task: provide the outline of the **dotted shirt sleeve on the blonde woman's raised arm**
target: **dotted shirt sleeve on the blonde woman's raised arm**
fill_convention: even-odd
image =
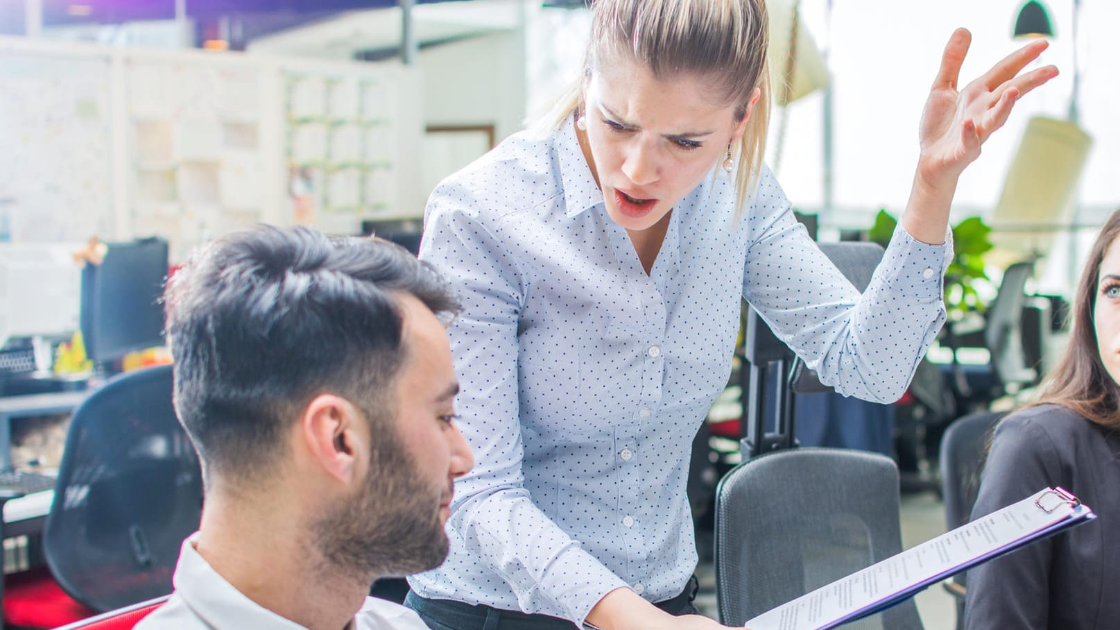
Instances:
[[[943,245],[900,226],[860,294],[796,223],[769,172],[752,207],[744,297],[774,333],[844,396],[894,402],[945,322]]]

